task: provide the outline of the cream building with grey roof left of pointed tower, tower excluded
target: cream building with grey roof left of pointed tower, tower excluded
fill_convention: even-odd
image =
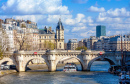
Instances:
[[[45,26],[44,29],[39,30],[39,49],[55,49],[55,32],[51,29],[51,27],[47,28]]]

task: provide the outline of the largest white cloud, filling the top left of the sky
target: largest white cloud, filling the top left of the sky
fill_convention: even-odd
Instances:
[[[8,0],[1,8],[5,14],[69,14],[62,0]]]

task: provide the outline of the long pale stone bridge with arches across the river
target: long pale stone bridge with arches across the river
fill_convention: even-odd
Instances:
[[[35,52],[35,53],[34,53]],[[99,54],[102,52],[102,55]],[[127,54],[130,57],[130,54]],[[105,60],[110,65],[121,65],[121,52],[104,51],[78,51],[78,50],[47,50],[47,51],[17,51],[7,52],[0,64],[8,62],[16,65],[17,71],[26,71],[27,65],[32,60],[42,60],[48,66],[48,71],[55,71],[61,60],[75,58],[82,66],[82,70],[89,71],[96,60]]]

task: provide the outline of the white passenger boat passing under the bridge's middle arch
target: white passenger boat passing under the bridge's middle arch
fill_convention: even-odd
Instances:
[[[63,71],[64,72],[76,72],[77,67],[74,63],[67,63],[67,64],[65,64]]]

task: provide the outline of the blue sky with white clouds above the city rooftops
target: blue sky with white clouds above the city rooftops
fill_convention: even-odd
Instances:
[[[130,33],[130,0],[0,0],[0,19],[31,20],[38,28],[52,27],[59,18],[65,41],[96,35],[96,26],[106,26],[106,35]]]

